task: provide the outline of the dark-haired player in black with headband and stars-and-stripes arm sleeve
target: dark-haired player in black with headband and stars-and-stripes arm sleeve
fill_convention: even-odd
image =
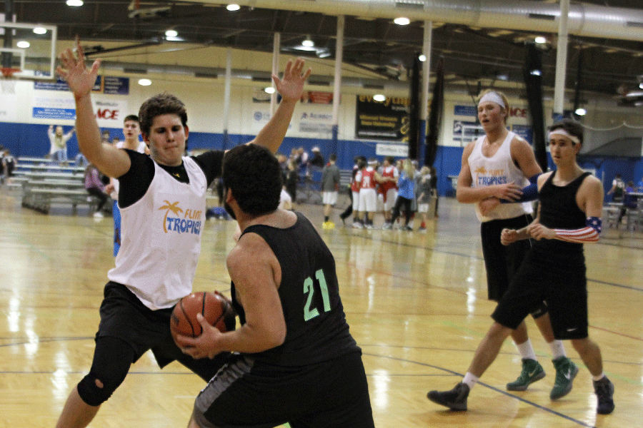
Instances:
[[[467,376],[476,379],[494,362],[504,340],[542,300],[551,312],[554,334],[571,340],[594,380],[597,413],[614,410],[614,384],[603,372],[599,346],[587,331],[587,277],[583,244],[599,240],[603,208],[601,182],[585,173],[576,161],[583,142],[579,123],[564,119],[550,128],[549,146],[557,170],[537,180],[539,212],[525,228],[502,230],[502,244],[533,238],[532,250],[514,275],[509,290],[492,314],[494,323],[484,337]],[[573,377],[573,373],[564,373]],[[466,377],[465,377],[466,379]],[[451,391],[429,392],[429,399],[454,410],[467,409],[469,385],[462,382]]]

